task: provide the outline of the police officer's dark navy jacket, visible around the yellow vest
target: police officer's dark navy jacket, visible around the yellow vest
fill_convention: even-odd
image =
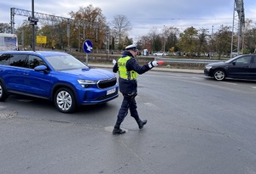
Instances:
[[[134,70],[139,75],[150,70],[150,68],[148,67],[148,64],[143,66],[138,65],[136,59],[132,56],[130,52],[125,51],[122,58],[125,58],[126,56],[131,57],[131,59],[129,59],[126,62],[126,65],[125,65],[126,70],[129,70],[129,71]],[[119,59],[122,59],[122,58],[119,58]],[[116,63],[113,66],[113,72],[116,73],[118,70],[119,70],[119,67],[118,67],[118,64]],[[119,77],[119,91],[120,93],[125,93],[125,94],[137,93],[137,80],[126,80]]]

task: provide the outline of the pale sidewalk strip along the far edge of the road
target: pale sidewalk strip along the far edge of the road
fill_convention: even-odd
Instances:
[[[109,68],[112,69],[113,65],[99,65],[99,64],[89,64],[89,67],[94,68]],[[172,69],[172,68],[166,68],[166,67],[155,67],[152,70],[157,71],[164,71],[164,72],[184,72],[184,73],[194,73],[194,74],[203,74],[204,70],[189,70],[189,69]]]

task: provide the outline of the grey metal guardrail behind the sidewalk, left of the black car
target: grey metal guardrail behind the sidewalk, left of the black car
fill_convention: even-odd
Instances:
[[[163,60],[170,63],[183,63],[183,64],[211,64],[214,62],[221,62],[224,60],[215,60],[215,59],[169,59],[169,58],[154,58],[155,60]]]

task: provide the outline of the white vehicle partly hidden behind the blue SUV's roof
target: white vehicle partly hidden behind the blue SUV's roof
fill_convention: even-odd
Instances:
[[[0,51],[18,50],[18,38],[15,34],[0,33]]]

